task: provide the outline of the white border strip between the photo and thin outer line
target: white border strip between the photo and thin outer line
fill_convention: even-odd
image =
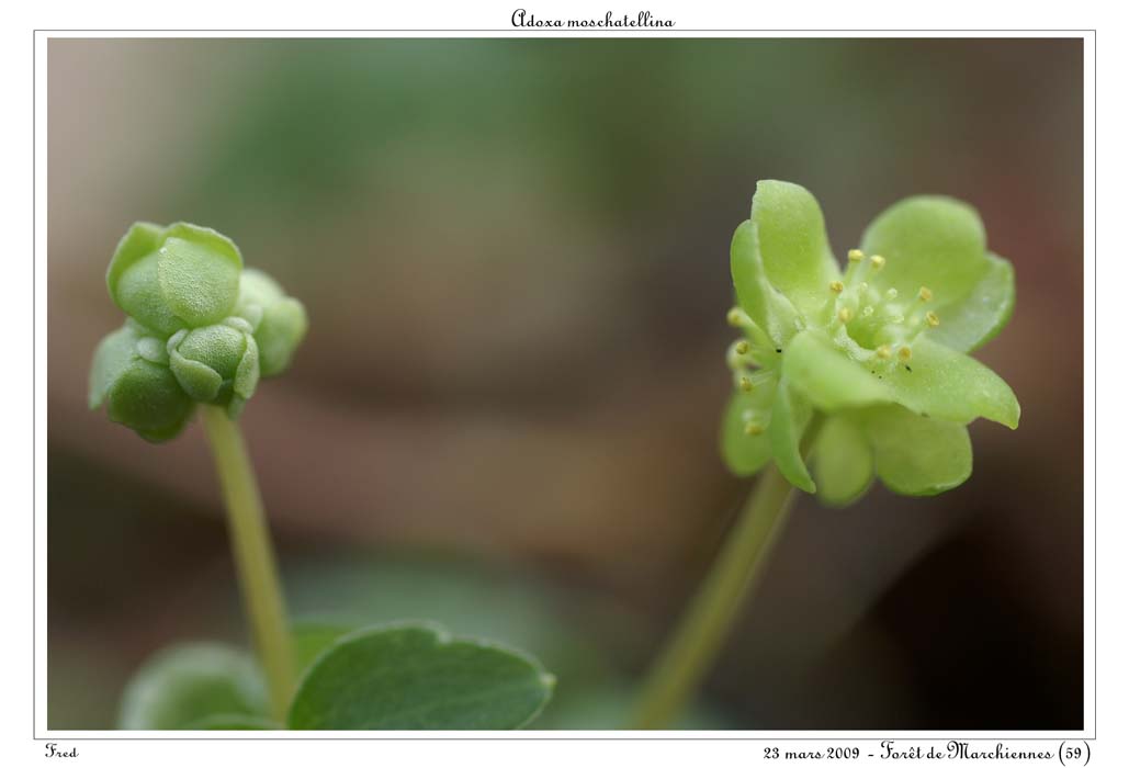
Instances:
[[[656,14],[657,16],[658,15]],[[1084,386],[1084,585],[1085,585],[1085,643],[1084,643],[1084,727],[1080,731],[701,731],[701,732],[618,732],[575,731],[517,733],[435,733],[396,732],[395,735],[375,736],[369,733],[330,732],[318,735],[306,733],[270,732],[256,735],[217,734],[217,732],[186,732],[175,736],[158,735],[160,732],[138,732],[137,735],[115,735],[121,732],[104,731],[49,731],[46,728],[46,254],[47,254],[47,140],[46,140],[46,82],[47,43],[53,38],[88,37],[1069,37],[1084,43],[1084,217],[1085,217],[1085,386]],[[785,742],[803,740],[816,744],[837,740],[896,739],[899,742],[914,740],[947,741],[1036,741],[1036,740],[1082,740],[1095,739],[1096,730],[1096,514],[1095,514],[1095,393],[1096,393],[1096,251],[1095,251],[1095,115],[1096,115],[1096,32],[1091,30],[735,30],[735,29],[680,29],[673,30],[546,30],[546,29],[474,29],[474,30],[36,30],[34,33],[34,80],[35,80],[35,174],[34,174],[34,320],[35,320],[35,398],[34,398],[34,721],[33,738],[38,741],[139,741],[139,740],[209,740],[209,741],[326,741],[326,740],[755,740]],[[1034,734],[1039,734],[1035,736]],[[207,735],[204,735],[207,734]],[[614,734],[614,735],[611,735]],[[798,745],[797,745],[798,748]],[[1018,749],[1009,744],[1010,749]],[[1014,765],[1014,763],[1012,763]]]

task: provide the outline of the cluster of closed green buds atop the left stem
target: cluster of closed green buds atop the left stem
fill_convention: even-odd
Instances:
[[[230,239],[193,224],[139,222],[106,271],[129,316],[98,344],[89,404],[141,437],[175,437],[196,403],[235,418],[260,376],[282,373],[306,334],[306,311],[270,277],[243,269]]]

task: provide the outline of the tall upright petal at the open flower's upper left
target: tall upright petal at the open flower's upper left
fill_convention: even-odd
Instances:
[[[802,314],[813,316],[826,304],[828,286],[839,277],[820,203],[798,184],[761,181],[751,218],[769,282]]]

